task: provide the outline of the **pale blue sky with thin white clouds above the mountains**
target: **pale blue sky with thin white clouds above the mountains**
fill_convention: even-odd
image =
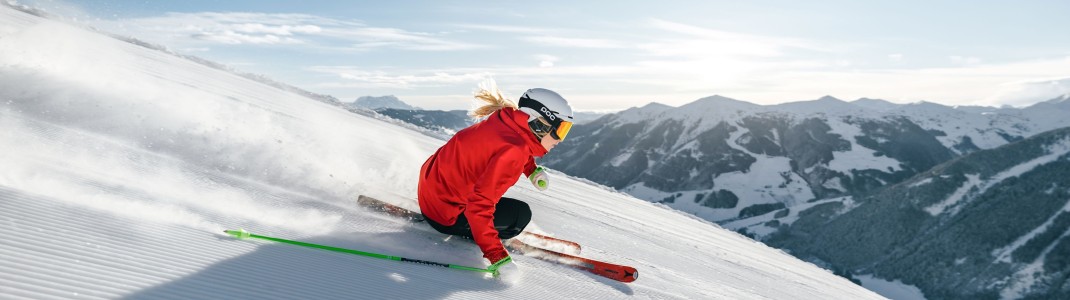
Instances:
[[[1026,106],[1070,93],[1070,1],[19,0],[342,102],[578,110],[722,95]]]

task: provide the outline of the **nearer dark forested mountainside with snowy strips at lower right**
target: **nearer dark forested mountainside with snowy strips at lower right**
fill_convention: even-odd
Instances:
[[[1070,128],[724,226],[930,299],[1070,299]]]

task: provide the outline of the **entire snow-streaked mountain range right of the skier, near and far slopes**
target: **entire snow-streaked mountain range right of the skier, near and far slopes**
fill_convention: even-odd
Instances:
[[[577,126],[541,163],[853,278],[1067,299],[1070,96],[1025,108],[712,96]]]

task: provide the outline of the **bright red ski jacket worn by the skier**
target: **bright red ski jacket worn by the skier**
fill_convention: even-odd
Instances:
[[[547,152],[528,129],[528,118],[520,110],[502,108],[457,132],[419,170],[421,211],[446,226],[463,212],[475,243],[490,262],[508,256],[494,229],[494,206],[521,174],[531,176],[535,158]]]

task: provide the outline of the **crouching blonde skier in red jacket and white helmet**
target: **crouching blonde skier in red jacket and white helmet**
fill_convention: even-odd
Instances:
[[[556,92],[530,89],[513,103],[493,82],[475,98],[486,104],[472,111],[486,118],[455,134],[421,167],[419,209],[435,230],[475,241],[490,270],[515,278],[519,270],[502,240],[520,235],[531,221],[528,204],[502,197],[526,176],[539,191],[549,178],[535,158],[568,135],[572,108]]]

